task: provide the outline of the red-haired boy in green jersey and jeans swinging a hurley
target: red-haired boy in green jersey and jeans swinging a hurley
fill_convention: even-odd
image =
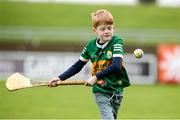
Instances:
[[[109,11],[97,10],[92,13],[92,23],[97,37],[87,43],[76,63],[60,76],[51,79],[49,87],[55,87],[57,81],[75,75],[90,60],[92,77],[85,85],[92,86],[101,118],[117,119],[123,88],[130,85],[122,65],[123,41],[119,36],[114,35],[113,16]]]

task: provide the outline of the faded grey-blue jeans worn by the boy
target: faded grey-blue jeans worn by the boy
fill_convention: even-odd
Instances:
[[[96,104],[99,107],[101,119],[115,120],[117,119],[118,110],[122,101],[122,93],[119,94],[94,94]]]

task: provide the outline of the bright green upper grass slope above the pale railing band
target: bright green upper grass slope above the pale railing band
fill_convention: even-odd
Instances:
[[[180,8],[0,2],[0,25],[91,27],[90,13],[108,9],[117,28],[180,29]],[[3,18],[3,19],[2,19]]]

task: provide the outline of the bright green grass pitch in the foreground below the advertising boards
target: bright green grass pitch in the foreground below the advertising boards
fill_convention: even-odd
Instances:
[[[125,89],[119,111],[122,119],[180,119],[178,85],[132,85]],[[60,86],[9,92],[0,81],[1,119],[99,118],[91,88]]]

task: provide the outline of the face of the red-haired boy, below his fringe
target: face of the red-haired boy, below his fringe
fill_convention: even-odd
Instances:
[[[93,29],[94,33],[99,37],[101,42],[110,41],[114,35],[113,25],[100,25]]]

